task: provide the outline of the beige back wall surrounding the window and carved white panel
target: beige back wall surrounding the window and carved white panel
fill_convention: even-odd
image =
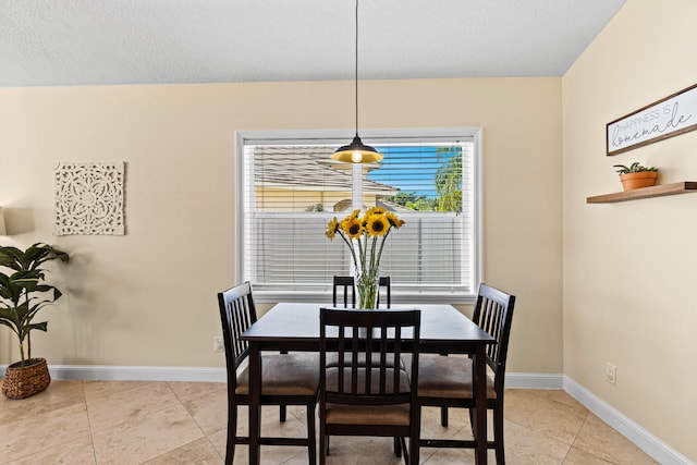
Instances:
[[[561,79],[362,82],[360,125],[482,126],[484,278],[518,296],[510,369],[562,370]],[[346,129],[352,82],[0,89],[3,244],[72,254],[34,338],[49,364],[223,366],[235,131]],[[368,140],[369,142],[369,140]],[[126,235],[52,236],[61,161],[125,161]],[[308,322],[311,323],[311,322]],[[0,329],[0,364],[17,358]]]

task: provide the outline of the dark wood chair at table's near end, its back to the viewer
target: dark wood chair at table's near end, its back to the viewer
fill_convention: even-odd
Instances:
[[[399,438],[395,454],[403,453],[407,465],[419,463],[418,363],[409,374],[393,368],[403,354],[418,360],[419,331],[417,309],[320,310],[320,465],[329,436]],[[333,352],[338,363],[330,366],[327,355]]]

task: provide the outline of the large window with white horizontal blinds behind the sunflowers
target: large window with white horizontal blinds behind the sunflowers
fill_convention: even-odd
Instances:
[[[327,223],[382,206],[405,224],[390,234],[380,273],[395,303],[472,302],[479,280],[478,130],[362,133],[375,164],[330,156],[345,134],[244,133],[239,138],[237,276],[260,302],[330,302],[334,274],[352,274],[348,248]],[[354,173],[354,171],[356,171]]]

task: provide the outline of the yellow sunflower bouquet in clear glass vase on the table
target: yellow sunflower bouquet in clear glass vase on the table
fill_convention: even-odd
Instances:
[[[351,250],[356,270],[358,308],[375,308],[384,241],[392,228],[402,228],[404,221],[382,207],[370,208],[363,217],[359,215],[360,210],[354,210],[341,221],[332,218],[325,234],[330,241],[339,234]]]

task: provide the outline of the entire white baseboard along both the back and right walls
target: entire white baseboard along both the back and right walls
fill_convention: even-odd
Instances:
[[[0,365],[0,377],[4,377],[7,367],[7,365]],[[227,381],[225,368],[50,365],[49,370],[53,379],[82,379],[89,381]],[[563,389],[658,463],[662,465],[695,465],[689,458],[564,375],[509,372],[505,376],[505,387],[513,389]]]

